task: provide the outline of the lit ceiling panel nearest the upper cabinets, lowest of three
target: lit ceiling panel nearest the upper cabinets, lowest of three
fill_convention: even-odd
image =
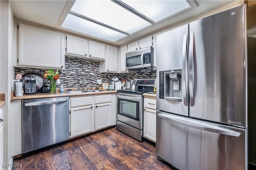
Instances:
[[[112,42],[115,42],[127,36],[123,33],[114,31],[91,21],[84,20],[72,14],[67,15],[61,27]]]

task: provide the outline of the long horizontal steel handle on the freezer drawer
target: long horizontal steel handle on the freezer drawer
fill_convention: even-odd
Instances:
[[[181,119],[176,119],[176,118],[172,117],[172,115],[167,114],[167,113],[166,114],[158,113],[158,116],[163,118],[163,119],[166,119],[168,121],[178,123],[180,125],[184,125],[184,126],[187,126],[187,127],[200,129],[200,130],[203,130],[203,131],[209,131],[209,132],[214,132],[214,133],[219,133],[219,134],[229,135],[229,136],[234,136],[234,137],[239,137],[240,134],[241,134],[241,133],[236,132],[236,131],[225,129],[225,128],[220,127],[218,125],[210,125],[210,124],[206,125],[206,123],[201,124],[201,123],[198,123],[197,120],[195,120],[194,122],[188,122],[188,121],[182,120],[182,117],[180,117]]]

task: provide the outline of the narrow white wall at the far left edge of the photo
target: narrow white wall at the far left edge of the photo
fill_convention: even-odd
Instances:
[[[12,162],[12,112],[10,96],[13,68],[13,15],[9,1],[0,3],[0,92],[6,92],[6,105],[2,107],[4,119],[4,162]],[[2,165],[0,165],[2,166]]]

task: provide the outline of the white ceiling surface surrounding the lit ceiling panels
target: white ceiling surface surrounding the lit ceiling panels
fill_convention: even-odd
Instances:
[[[124,43],[128,43],[134,39],[138,39],[139,37],[148,35],[158,29],[167,27],[168,25],[172,25],[174,23],[178,23],[179,21],[193,18],[194,16],[198,16],[209,10],[228,4],[232,2],[232,0],[196,0],[196,2],[198,3],[199,6],[196,6],[196,3],[194,3],[193,0],[188,0],[188,3],[190,4],[191,8],[186,10],[185,12],[172,16],[164,21],[160,21],[159,23],[156,23],[146,29],[138,31],[133,35],[129,35],[128,37],[125,37],[124,39],[121,39],[115,42],[114,44],[122,45]],[[46,25],[48,27],[63,29],[60,26],[62,25],[62,22],[64,21],[64,19],[66,18],[66,15],[71,9],[72,4],[74,4],[74,1],[73,0],[12,0],[10,1],[10,4],[12,7],[14,18]],[[65,31],[68,32],[69,30],[65,30]],[[72,31],[69,31],[69,32],[72,32]],[[102,39],[99,39],[99,40],[104,41]],[[106,41],[106,42],[109,42],[109,41]]]

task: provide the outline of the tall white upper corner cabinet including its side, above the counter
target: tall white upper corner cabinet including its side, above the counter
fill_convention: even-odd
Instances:
[[[100,62],[100,72],[117,72],[117,47],[107,45],[106,59]]]

